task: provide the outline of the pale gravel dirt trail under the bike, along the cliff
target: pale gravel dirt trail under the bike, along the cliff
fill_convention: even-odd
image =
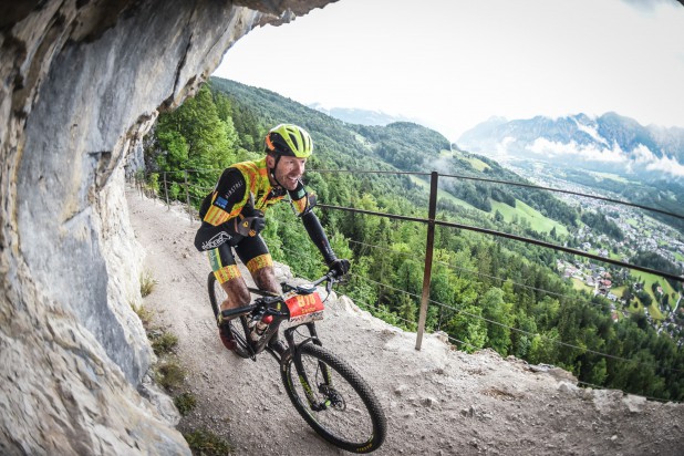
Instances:
[[[206,292],[208,261],[193,247],[198,222],[134,190],[127,199],[146,268],[158,282],[145,307],[155,311],[155,325],[178,336],[187,390],[198,401],[179,428],[206,427],[238,455],[344,454],[297,414],[270,355],[255,363],[221,345]],[[387,439],[376,455],[682,454],[682,404],[578,388],[564,371],[491,351],[465,354],[435,335],[416,351],[415,333],[346,299],[328,303],[319,324],[323,344],[373,386],[387,415]]]

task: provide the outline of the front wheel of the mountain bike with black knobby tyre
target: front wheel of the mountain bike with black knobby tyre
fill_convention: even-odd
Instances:
[[[387,424],[380,401],[346,362],[305,343],[283,360],[280,372],[294,408],[328,442],[352,453],[383,444]]]

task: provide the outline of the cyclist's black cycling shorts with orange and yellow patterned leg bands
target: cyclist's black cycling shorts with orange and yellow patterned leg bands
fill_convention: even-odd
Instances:
[[[247,269],[252,274],[259,269],[273,266],[271,253],[269,253],[261,236],[246,237],[234,247],[229,242],[224,242],[211,250],[207,250],[211,270],[219,283],[241,277],[240,270],[235,262],[232,249],[235,249],[240,261],[247,266]]]

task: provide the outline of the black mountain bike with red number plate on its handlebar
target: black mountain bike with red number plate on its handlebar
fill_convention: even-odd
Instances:
[[[225,319],[232,318],[238,356],[257,361],[267,351],[280,363],[290,401],[321,437],[351,453],[371,453],[383,444],[387,429],[380,401],[353,367],[322,346],[315,330],[336,281],[331,271],[307,286],[283,282],[282,296],[249,288],[260,298],[250,305],[220,311],[226,293],[210,272],[209,301],[216,318],[219,311]],[[317,286],[323,282],[328,296],[321,300]],[[287,321],[283,341],[279,329]]]

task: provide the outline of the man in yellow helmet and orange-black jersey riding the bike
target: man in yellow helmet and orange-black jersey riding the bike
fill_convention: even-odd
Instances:
[[[250,294],[235,261],[231,249],[247,266],[259,289],[280,294],[273,260],[259,232],[266,227],[263,213],[290,196],[309,237],[321,251],[325,265],[338,276],[349,270],[349,261],[338,259],[313,208],[301,176],[313,143],[302,127],[280,124],[266,135],[266,156],[255,162],[237,163],[224,170],[214,190],[199,209],[203,220],[195,236],[195,247],[207,251],[211,270],[228,298],[221,310],[249,305]],[[219,313],[221,342],[235,349],[228,320]]]

